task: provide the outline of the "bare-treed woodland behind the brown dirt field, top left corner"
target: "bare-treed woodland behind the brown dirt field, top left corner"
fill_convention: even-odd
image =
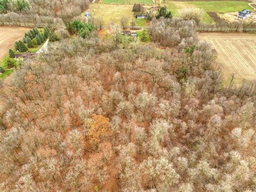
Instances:
[[[18,9],[17,2],[24,3],[22,9]],[[60,27],[87,9],[89,3],[89,0],[0,0],[0,25]]]

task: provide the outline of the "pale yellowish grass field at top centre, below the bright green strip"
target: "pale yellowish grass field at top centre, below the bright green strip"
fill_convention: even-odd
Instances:
[[[130,21],[132,21],[132,18],[134,18],[132,13],[132,7],[133,5],[94,3],[94,4],[91,4],[90,8],[86,11],[89,11],[90,13],[92,13],[94,17],[102,18],[104,21],[104,25],[110,25],[111,21],[114,21],[115,23],[119,23],[123,15],[129,17]],[[150,6],[145,5],[144,7],[145,9],[148,9]],[[141,23],[137,23],[137,24],[141,25]],[[129,22],[129,25],[130,25],[130,22]]]

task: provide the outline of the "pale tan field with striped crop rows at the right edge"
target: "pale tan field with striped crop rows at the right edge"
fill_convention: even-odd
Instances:
[[[224,84],[235,74],[235,83],[256,80],[256,34],[201,33],[212,44],[221,63]]]

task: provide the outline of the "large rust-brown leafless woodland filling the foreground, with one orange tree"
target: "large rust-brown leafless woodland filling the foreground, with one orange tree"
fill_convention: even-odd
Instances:
[[[1,84],[1,191],[256,189],[256,87],[221,85],[195,22],[52,43]]]

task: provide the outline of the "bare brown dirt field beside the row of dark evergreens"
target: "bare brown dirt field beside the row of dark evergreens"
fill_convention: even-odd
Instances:
[[[12,49],[14,42],[21,40],[24,34],[29,31],[24,27],[6,27],[0,26],[0,60]]]

